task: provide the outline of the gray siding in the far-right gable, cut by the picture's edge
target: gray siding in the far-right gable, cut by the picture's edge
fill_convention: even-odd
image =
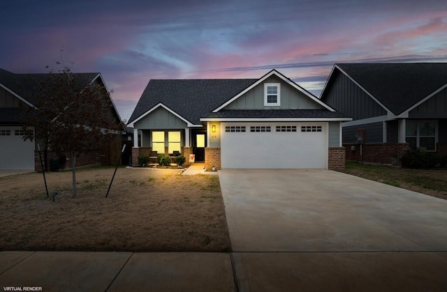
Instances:
[[[447,89],[433,95],[429,100],[409,112],[409,118],[446,118]]]

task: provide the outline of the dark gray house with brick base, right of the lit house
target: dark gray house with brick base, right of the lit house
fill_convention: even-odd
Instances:
[[[447,63],[337,63],[321,100],[353,117],[347,159],[397,164],[408,147],[447,154],[446,87]]]

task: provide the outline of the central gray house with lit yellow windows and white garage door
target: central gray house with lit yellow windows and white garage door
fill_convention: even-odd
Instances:
[[[133,165],[151,151],[179,151],[208,170],[339,169],[342,121],[351,118],[276,70],[260,79],[153,79],[129,119]]]

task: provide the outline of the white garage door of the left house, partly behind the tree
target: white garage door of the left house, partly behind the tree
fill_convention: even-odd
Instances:
[[[22,137],[20,127],[0,127],[0,169],[34,170],[34,142]]]

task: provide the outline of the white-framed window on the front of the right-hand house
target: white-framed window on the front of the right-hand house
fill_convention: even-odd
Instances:
[[[406,143],[411,149],[436,151],[436,128],[435,121],[406,121]]]

